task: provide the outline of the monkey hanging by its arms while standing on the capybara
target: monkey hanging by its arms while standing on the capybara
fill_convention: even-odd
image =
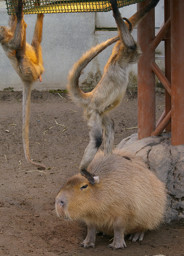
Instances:
[[[93,160],[99,146],[102,144],[102,127],[104,139],[104,154],[112,153],[114,146],[114,121],[108,114],[124,97],[128,73],[131,64],[137,63],[141,48],[131,36],[132,28],[154,8],[159,0],[152,0],[144,8],[130,17],[129,21],[122,18],[118,10],[117,0],[110,0],[115,18],[118,36],[112,37],[101,44],[92,47],[74,64],[68,74],[67,89],[72,100],[84,107],[84,115],[88,120],[89,144],[84,151],[79,171],[93,185],[93,174],[87,168]],[[125,23],[124,20],[127,22]],[[128,29],[129,28],[129,29]],[[108,46],[115,43],[112,55],[104,67],[103,75],[98,85],[91,92],[83,92],[79,88],[79,77],[88,63]]]

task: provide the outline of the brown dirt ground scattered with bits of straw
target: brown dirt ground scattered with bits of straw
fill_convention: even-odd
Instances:
[[[85,239],[86,226],[67,222],[53,210],[61,186],[78,172],[88,144],[88,128],[82,109],[65,93],[60,95],[32,91],[30,154],[35,162],[47,166],[46,171],[40,172],[24,157],[21,92],[0,92],[0,255],[184,255],[182,223],[148,232],[142,242],[125,238],[125,250],[107,249],[111,238],[102,235],[97,236],[94,249],[79,247]],[[164,94],[160,92],[156,94],[156,106],[158,118],[164,110]],[[115,122],[115,145],[137,133],[133,128],[137,127],[137,93],[127,91],[111,116]]]

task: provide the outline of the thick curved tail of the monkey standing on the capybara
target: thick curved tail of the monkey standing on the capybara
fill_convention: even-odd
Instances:
[[[72,100],[74,100],[75,102],[81,105],[86,105],[85,99],[88,93],[83,92],[79,88],[79,77],[82,74],[82,70],[99,53],[101,53],[108,46],[110,46],[111,44],[115,43],[118,40],[119,40],[118,36],[112,37],[107,41],[92,47],[90,50],[86,51],[86,53],[84,53],[82,57],[73,65],[72,69],[69,71],[69,74],[68,74],[68,85],[67,85],[67,90]]]

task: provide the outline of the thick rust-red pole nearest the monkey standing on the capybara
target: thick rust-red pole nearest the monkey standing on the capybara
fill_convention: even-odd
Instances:
[[[137,3],[137,10],[149,0]],[[137,26],[137,39],[142,49],[138,62],[138,139],[151,136],[155,130],[155,74],[151,63],[155,61],[155,51],[149,50],[149,44],[155,38],[155,10]]]

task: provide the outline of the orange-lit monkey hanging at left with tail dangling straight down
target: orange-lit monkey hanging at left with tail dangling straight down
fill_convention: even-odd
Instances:
[[[22,90],[22,138],[26,160],[38,169],[46,167],[31,161],[29,155],[29,114],[32,84],[39,79],[42,81],[43,60],[42,48],[42,13],[37,14],[35,31],[31,45],[26,42],[26,23],[24,21],[23,1],[18,0],[15,14],[8,20],[8,27],[0,27],[0,43],[9,58],[14,70],[23,82]]]

